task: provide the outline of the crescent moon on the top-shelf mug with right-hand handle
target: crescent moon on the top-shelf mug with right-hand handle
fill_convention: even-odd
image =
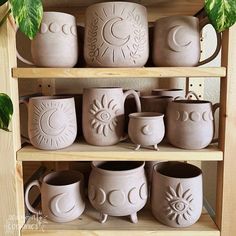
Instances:
[[[184,44],[180,44],[177,42],[176,35],[181,29],[184,29],[184,28],[185,28],[184,26],[176,25],[172,27],[168,33],[168,36],[167,36],[168,45],[175,52],[183,51],[187,46],[189,46],[192,43],[191,40],[189,40],[188,42]]]

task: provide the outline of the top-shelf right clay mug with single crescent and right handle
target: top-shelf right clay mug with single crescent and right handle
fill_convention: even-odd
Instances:
[[[221,35],[215,52],[200,61],[200,32],[210,24],[193,16],[169,16],[158,19],[154,29],[153,62],[156,66],[198,66],[212,61],[219,53]]]

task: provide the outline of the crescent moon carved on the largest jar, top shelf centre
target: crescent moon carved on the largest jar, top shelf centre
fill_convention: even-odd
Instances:
[[[108,20],[103,27],[104,40],[107,43],[114,45],[114,46],[122,46],[122,45],[126,44],[130,39],[130,35],[128,35],[125,38],[121,38],[121,37],[115,35],[114,27],[120,21],[123,21],[123,19],[121,17],[112,18],[112,19]]]

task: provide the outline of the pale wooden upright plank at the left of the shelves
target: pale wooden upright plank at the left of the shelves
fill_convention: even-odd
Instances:
[[[0,7],[0,16],[7,4]],[[20,149],[18,82],[12,78],[16,66],[15,32],[10,22],[0,27],[0,93],[8,94],[14,105],[9,129],[0,130],[0,235],[20,235],[24,221],[22,163],[16,161]]]

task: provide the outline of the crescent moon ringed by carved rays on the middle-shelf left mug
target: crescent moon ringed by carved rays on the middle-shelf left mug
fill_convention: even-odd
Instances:
[[[58,134],[60,134],[61,132],[63,132],[63,130],[65,129],[66,125],[62,125],[61,127],[53,127],[53,116],[56,116],[57,113],[57,109],[50,109],[47,110],[40,118],[40,127],[42,129],[42,131],[45,134],[48,135],[52,135],[52,136],[56,136]],[[55,125],[54,125],[55,126]]]

